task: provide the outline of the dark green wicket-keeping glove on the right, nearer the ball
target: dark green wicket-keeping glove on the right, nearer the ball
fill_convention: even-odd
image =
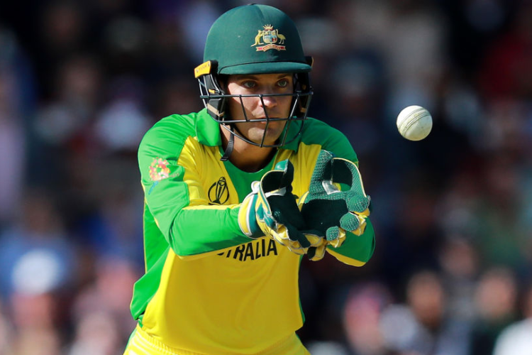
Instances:
[[[347,185],[348,189],[340,190],[340,184]],[[370,197],[364,191],[357,165],[321,151],[309,192],[301,197],[299,207],[306,227],[318,231],[324,237],[323,244],[338,248],[345,240],[346,231],[359,236],[364,233],[365,218],[370,215]],[[326,245],[319,246],[316,253],[323,253]]]

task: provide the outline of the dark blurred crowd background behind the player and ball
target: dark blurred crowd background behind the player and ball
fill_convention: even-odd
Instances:
[[[374,201],[363,268],[303,261],[312,354],[532,354],[532,1],[292,0],[310,116]],[[143,272],[136,149],[201,109],[193,69],[243,1],[0,3],[0,354],[120,355]],[[401,138],[411,104],[434,119]],[[521,352],[520,352],[521,351]]]

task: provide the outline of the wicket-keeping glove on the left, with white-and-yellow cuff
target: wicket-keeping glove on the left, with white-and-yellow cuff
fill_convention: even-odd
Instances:
[[[317,235],[304,233],[305,222],[292,195],[294,165],[277,163],[260,181],[251,184],[238,212],[238,224],[246,236],[269,236],[299,255],[321,244]]]

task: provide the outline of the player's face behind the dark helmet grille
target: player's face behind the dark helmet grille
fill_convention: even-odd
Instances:
[[[260,75],[230,75],[227,81],[227,92],[233,95],[245,94],[292,94],[294,80],[292,74],[260,74]],[[245,119],[251,122],[235,124],[236,128],[246,138],[260,144],[264,138],[265,145],[275,144],[281,135],[286,121],[253,122],[256,119],[272,118],[286,119],[292,107],[291,96],[279,97],[231,97],[228,99],[231,117],[235,120]],[[243,112],[245,110],[245,115]],[[267,125],[267,129],[266,129]]]

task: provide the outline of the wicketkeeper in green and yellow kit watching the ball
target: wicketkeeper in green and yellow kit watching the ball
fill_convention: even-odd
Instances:
[[[211,27],[205,109],[161,119],[138,150],[145,274],[124,354],[309,354],[301,258],[362,266],[375,246],[357,155],[307,117],[310,71],[279,9],[239,6]]]

